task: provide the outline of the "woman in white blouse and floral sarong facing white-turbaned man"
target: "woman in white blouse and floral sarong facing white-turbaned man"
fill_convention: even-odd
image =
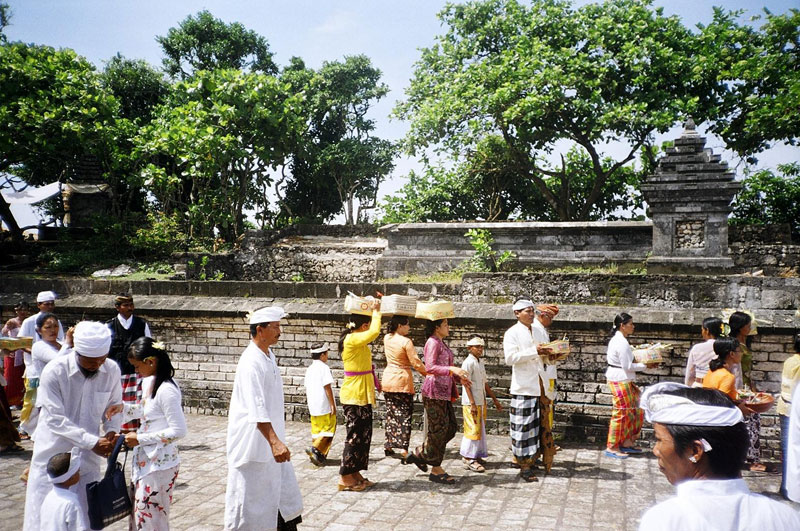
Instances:
[[[125,421],[140,419],[135,432],[125,434],[133,448],[133,523],[138,530],[169,529],[172,491],[180,458],[175,441],[186,435],[181,391],[175,369],[163,345],[140,337],[128,350],[128,361],[142,376],[142,398],[124,404]]]

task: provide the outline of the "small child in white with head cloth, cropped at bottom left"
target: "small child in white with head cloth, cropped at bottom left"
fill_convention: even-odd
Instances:
[[[47,475],[53,490],[42,503],[40,529],[42,531],[83,531],[89,529],[81,509],[78,495],[70,490],[80,481],[81,459],[79,450],[56,454],[47,462]]]

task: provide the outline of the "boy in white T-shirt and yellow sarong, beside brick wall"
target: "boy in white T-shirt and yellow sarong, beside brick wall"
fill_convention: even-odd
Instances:
[[[305,386],[313,441],[306,453],[313,464],[323,466],[336,432],[336,400],[333,398],[333,375],[328,367],[328,346],[314,343],[311,357],[314,361],[306,369]]]

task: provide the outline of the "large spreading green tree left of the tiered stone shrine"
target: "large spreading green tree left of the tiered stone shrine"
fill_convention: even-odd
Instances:
[[[439,14],[446,31],[422,50],[407,99],[406,147],[457,161],[488,135],[502,137],[509,171],[530,179],[556,219],[587,220],[617,172],[687,113],[705,116],[698,98],[709,82],[695,69],[694,36],[649,1],[473,1]],[[604,144],[627,153],[604,163]],[[590,186],[549,162],[556,146],[590,162]],[[621,190],[617,190],[621,192]],[[602,210],[602,209],[601,209]]]

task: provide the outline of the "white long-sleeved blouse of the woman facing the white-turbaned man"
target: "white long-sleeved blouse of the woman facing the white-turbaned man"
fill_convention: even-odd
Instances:
[[[175,441],[186,437],[186,417],[183,415],[181,390],[177,384],[162,382],[156,396],[151,397],[155,376],[142,380],[142,398],[136,404],[123,402],[123,420],[141,419],[136,430],[139,444],[133,449],[131,480],[138,481],[147,474],[169,470],[180,465]]]

